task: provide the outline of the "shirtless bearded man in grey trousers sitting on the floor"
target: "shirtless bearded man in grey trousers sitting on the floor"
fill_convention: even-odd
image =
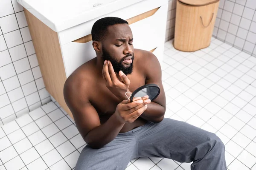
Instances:
[[[64,85],[65,101],[87,143],[75,170],[125,170],[138,157],[193,161],[192,170],[227,170],[224,144],[215,134],[164,118],[160,63],[154,54],[134,49],[125,20],[96,21],[92,39],[96,57]],[[157,99],[127,102],[125,92],[150,83],[160,87]]]

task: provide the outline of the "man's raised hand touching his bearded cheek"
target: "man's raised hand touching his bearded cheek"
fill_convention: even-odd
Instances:
[[[102,77],[105,80],[107,88],[120,100],[125,99],[125,92],[129,91],[130,80],[122,72],[116,74],[110,61],[105,60]]]

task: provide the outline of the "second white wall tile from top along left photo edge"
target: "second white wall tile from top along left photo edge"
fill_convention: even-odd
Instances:
[[[0,18],[0,26],[3,34],[19,29],[15,14]]]

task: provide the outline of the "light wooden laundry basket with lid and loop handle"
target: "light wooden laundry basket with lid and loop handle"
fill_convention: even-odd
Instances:
[[[210,45],[219,0],[177,0],[174,47],[197,51]]]

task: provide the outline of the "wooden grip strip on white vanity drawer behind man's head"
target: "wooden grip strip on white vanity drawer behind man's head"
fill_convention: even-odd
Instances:
[[[136,23],[136,22],[138,22],[140,20],[143,20],[143,19],[145,19],[147,17],[150,17],[150,16],[154,15],[159,8],[160,7],[154,8],[154,9],[152,9],[150,11],[144,12],[143,14],[140,14],[140,15],[137,15],[135,17],[129,18],[126,21],[129,23],[129,25],[132,24],[132,23]],[[92,40],[92,35],[89,34],[89,35],[81,37],[81,38],[79,38],[77,40],[74,40],[73,42],[86,43],[86,42],[89,42],[91,40]]]

